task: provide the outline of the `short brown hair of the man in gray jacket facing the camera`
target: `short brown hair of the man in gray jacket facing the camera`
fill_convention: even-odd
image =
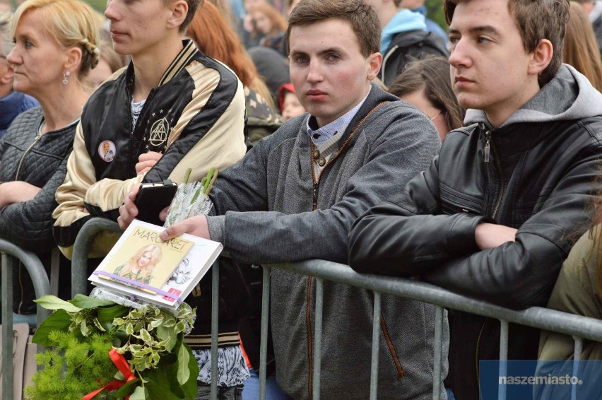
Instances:
[[[288,48],[290,30],[295,25],[310,25],[331,18],[350,23],[364,57],[379,51],[381,29],[378,16],[372,6],[363,0],[301,0],[288,18]]]

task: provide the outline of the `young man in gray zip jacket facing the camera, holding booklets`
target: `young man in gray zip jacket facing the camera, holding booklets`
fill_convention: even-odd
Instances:
[[[308,114],[220,173],[215,216],[172,225],[162,239],[211,237],[249,264],[346,262],[355,218],[424,170],[440,146],[425,114],[371,83],[382,62],[379,32],[364,1],[302,0],[289,20],[290,78]],[[136,215],[133,196],[120,210],[123,227]],[[315,280],[274,269],[271,298],[276,379],[294,399],[311,399]],[[373,300],[324,283],[322,399],[370,397]],[[432,399],[434,317],[432,305],[384,296],[379,398]]]

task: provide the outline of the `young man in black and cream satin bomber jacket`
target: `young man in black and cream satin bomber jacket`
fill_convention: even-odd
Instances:
[[[54,237],[67,257],[83,223],[92,217],[117,220],[124,195],[141,182],[182,182],[189,167],[190,179],[196,180],[211,167],[223,170],[243,157],[242,84],[191,40],[182,40],[202,1],[108,1],[105,16],[114,49],[131,54],[131,62],[95,90],[77,127],[53,214]],[[106,254],[113,243],[114,237],[101,233],[90,257]],[[228,353],[228,365],[220,367],[230,379],[220,379],[220,385],[240,392],[249,372],[244,363],[238,368],[242,353],[237,319],[244,314],[248,292],[238,266],[224,262],[228,266],[220,274],[220,297],[225,299],[220,351]],[[187,299],[199,306],[187,341],[204,357],[208,351],[202,349],[211,346],[211,273],[196,293]],[[201,367],[199,380],[208,379]]]

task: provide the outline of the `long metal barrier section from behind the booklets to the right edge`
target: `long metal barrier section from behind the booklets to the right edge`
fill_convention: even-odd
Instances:
[[[80,261],[76,266],[75,254],[73,254],[73,269],[83,268],[81,271],[73,271],[73,288],[85,288],[85,261],[89,245],[93,240],[93,236],[101,230],[108,227],[114,230],[116,223],[110,223],[107,220],[94,218],[84,225],[81,233],[76,240],[78,244],[87,244],[88,247],[75,249],[78,252]],[[90,226],[87,226],[90,225]],[[104,228],[103,228],[104,227]],[[83,252],[85,251],[85,254]],[[217,370],[217,341],[218,341],[218,288],[219,288],[219,269],[218,264],[213,265],[213,288],[212,288],[212,308],[211,308],[211,368]],[[374,322],[372,326],[372,367],[370,378],[370,399],[377,399],[377,382],[378,382],[378,348],[380,337],[379,315],[381,309],[381,295],[389,294],[403,298],[410,298],[428,302],[435,305],[435,360],[433,371],[433,399],[439,399],[440,376],[442,361],[442,334],[443,334],[443,313],[444,308],[470,312],[485,317],[495,318],[500,321],[500,360],[507,360],[508,354],[508,324],[521,324],[528,327],[545,329],[546,331],[554,331],[560,334],[566,334],[574,338],[574,360],[579,361],[583,348],[583,340],[602,342],[602,320],[583,317],[580,315],[568,314],[555,310],[548,310],[542,307],[531,307],[527,310],[510,310],[491,303],[466,298],[465,296],[451,293],[449,290],[444,290],[437,286],[430,285],[419,281],[413,281],[405,278],[394,278],[390,276],[375,276],[368,274],[360,274],[347,265],[337,264],[331,261],[324,260],[309,260],[291,264],[273,264],[264,266],[264,287],[263,300],[261,304],[261,347],[260,347],[260,368],[259,368],[259,399],[266,399],[266,353],[267,353],[267,332],[268,332],[268,308],[270,294],[270,271],[273,268],[284,269],[295,273],[300,273],[306,276],[316,278],[316,301],[315,301],[315,343],[314,343],[314,386],[313,399],[320,398],[320,372],[321,372],[321,322],[322,322],[322,302],[323,302],[323,282],[334,281],[344,283],[357,288],[364,288],[374,292]],[[3,272],[4,273],[4,272]],[[83,281],[76,286],[76,273],[78,279],[83,278]],[[4,276],[3,276],[4,279]],[[4,282],[4,280],[3,280]],[[4,285],[4,283],[3,283]],[[75,293],[75,292],[74,292]],[[78,292],[83,293],[83,292]],[[3,305],[4,307],[4,305]],[[505,363],[500,363],[500,376],[506,375],[504,368]],[[216,377],[211,377],[211,399],[217,399],[216,392]],[[506,399],[505,388],[502,385],[498,393],[499,399]]]

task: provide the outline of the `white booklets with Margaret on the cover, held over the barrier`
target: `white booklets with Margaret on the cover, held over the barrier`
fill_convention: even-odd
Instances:
[[[187,234],[163,242],[163,229],[134,220],[88,279],[95,286],[176,310],[223,246]]]

